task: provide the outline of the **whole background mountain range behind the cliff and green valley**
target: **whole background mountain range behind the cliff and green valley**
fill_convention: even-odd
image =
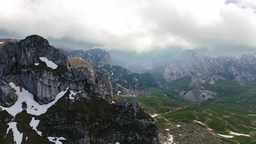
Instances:
[[[231,80],[240,85],[255,83],[256,55],[254,54],[210,56],[199,49],[185,50],[176,57],[158,57],[158,62],[143,61],[144,65],[150,65],[154,70],[151,71],[154,75],[152,76],[149,73],[132,73],[121,66],[113,66],[111,55],[105,50],[60,49],[60,51],[66,56],[81,57],[92,64],[94,69],[107,74],[115,95],[138,96],[142,92],[150,92],[148,89],[150,87],[161,88],[165,94],[174,99],[182,98],[191,104],[200,104],[218,97],[219,93],[208,85],[220,79]],[[167,59],[168,62],[162,62]],[[130,65],[129,62],[126,64]],[[147,69],[148,67],[141,67],[140,71]]]

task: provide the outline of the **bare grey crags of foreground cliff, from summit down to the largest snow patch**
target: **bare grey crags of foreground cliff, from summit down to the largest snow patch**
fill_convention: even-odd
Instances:
[[[17,43],[8,42],[0,49],[0,55],[3,56],[0,59],[0,77],[6,83],[14,82],[34,94],[39,104],[52,102],[70,84],[76,85],[82,81],[85,82],[75,91],[89,86],[99,97],[109,102],[112,100],[112,87],[106,76],[90,68],[67,68],[67,57],[40,36],[28,36]],[[57,69],[48,68],[39,57],[46,57],[54,62],[58,65]],[[35,63],[39,65],[36,66]],[[14,102],[13,100],[16,99],[10,102]]]

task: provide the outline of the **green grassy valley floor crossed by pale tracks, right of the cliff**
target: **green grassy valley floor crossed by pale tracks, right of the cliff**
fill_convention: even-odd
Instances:
[[[228,80],[219,80],[216,84],[208,84],[205,87],[220,95],[217,99],[208,100],[198,106],[175,101],[164,96],[162,91],[157,89],[152,89],[151,94],[128,100],[139,101],[140,105],[152,115],[161,114],[155,117],[158,124],[182,122],[210,128],[212,132],[218,134],[228,135],[230,131],[250,134],[250,137],[233,135],[230,140],[225,138],[223,140],[230,143],[233,143],[231,140],[235,140],[240,144],[256,144],[256,116],[250,116],[256,115],[256,88],[240,86]]]

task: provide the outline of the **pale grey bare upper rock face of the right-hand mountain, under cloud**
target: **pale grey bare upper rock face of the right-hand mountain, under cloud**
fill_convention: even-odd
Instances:
[[[244,54],[239,58],[232,56],[211,57],[197,50],[186,50],[164,70],[167,82],[192,76],[207,80],[219,78],[234,80],[241,85],[255,79],[256,56]]]

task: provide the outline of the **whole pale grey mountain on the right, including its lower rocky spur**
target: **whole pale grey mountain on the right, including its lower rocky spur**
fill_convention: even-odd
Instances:
[[[239,57],[212,57],[200,50],[186,50],[164,68],[157,76],[158,86],[172,90],[191,103],[199,104],[218,93],[204,84],[214,84],[219,79],[232,80],[240,85],[252,84],[256,78],[256,55]]]

